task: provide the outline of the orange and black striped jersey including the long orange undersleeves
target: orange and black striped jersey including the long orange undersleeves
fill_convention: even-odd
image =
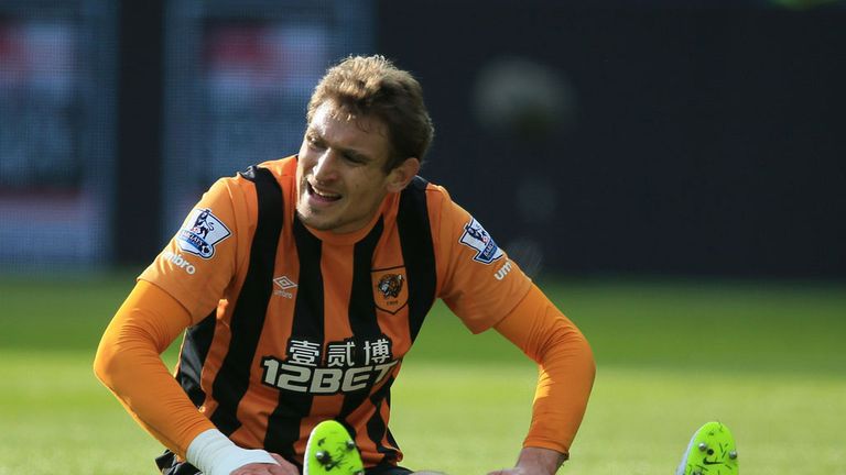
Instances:
[[[142,273],[95,360],[130,413],[182,456],[217,427],[296,463],[311,429],[336,419],[367,466],[394,464],[390,389],[441,298],[539,363],[524,445],[566,454],[589,346],[485,229],[415,178],[360,231],[315,231],[294,211],[295,169],[289,157],[218,180]],[[186,328],[174,380],[159,353]]]

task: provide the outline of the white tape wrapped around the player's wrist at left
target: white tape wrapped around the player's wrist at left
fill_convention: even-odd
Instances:
[[[209,429],[194,438],[185,459],[206,475],[229,475],[251,463],[276,465],[267,451],[241,449],[217,429]]]

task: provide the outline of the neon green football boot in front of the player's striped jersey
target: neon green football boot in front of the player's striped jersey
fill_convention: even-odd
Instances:
[[[364,475],[365,466],[356,442],[334,420],[318,423],[308,437],[303,475]]]

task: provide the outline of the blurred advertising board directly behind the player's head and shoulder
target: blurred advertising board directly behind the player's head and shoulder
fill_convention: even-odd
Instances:
[[[296,153],[328,66],[369,53],[369,0],[176,0],[165,13],[162,229],[219,177]]]

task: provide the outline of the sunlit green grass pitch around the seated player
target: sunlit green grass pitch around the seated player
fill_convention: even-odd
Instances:
[[[843,283],[540,279],[598,373],[561,473],[672,474],[720,420],[745,474],[846,474]],[[128,274],[0,278],[0,475],[153,474],[161,446],[96,382]],[[174,361],[174,352],[166,354]],[[403,464],[452,475],[514,462],[535,369],[437,306],[405,358],[391,426]]]

